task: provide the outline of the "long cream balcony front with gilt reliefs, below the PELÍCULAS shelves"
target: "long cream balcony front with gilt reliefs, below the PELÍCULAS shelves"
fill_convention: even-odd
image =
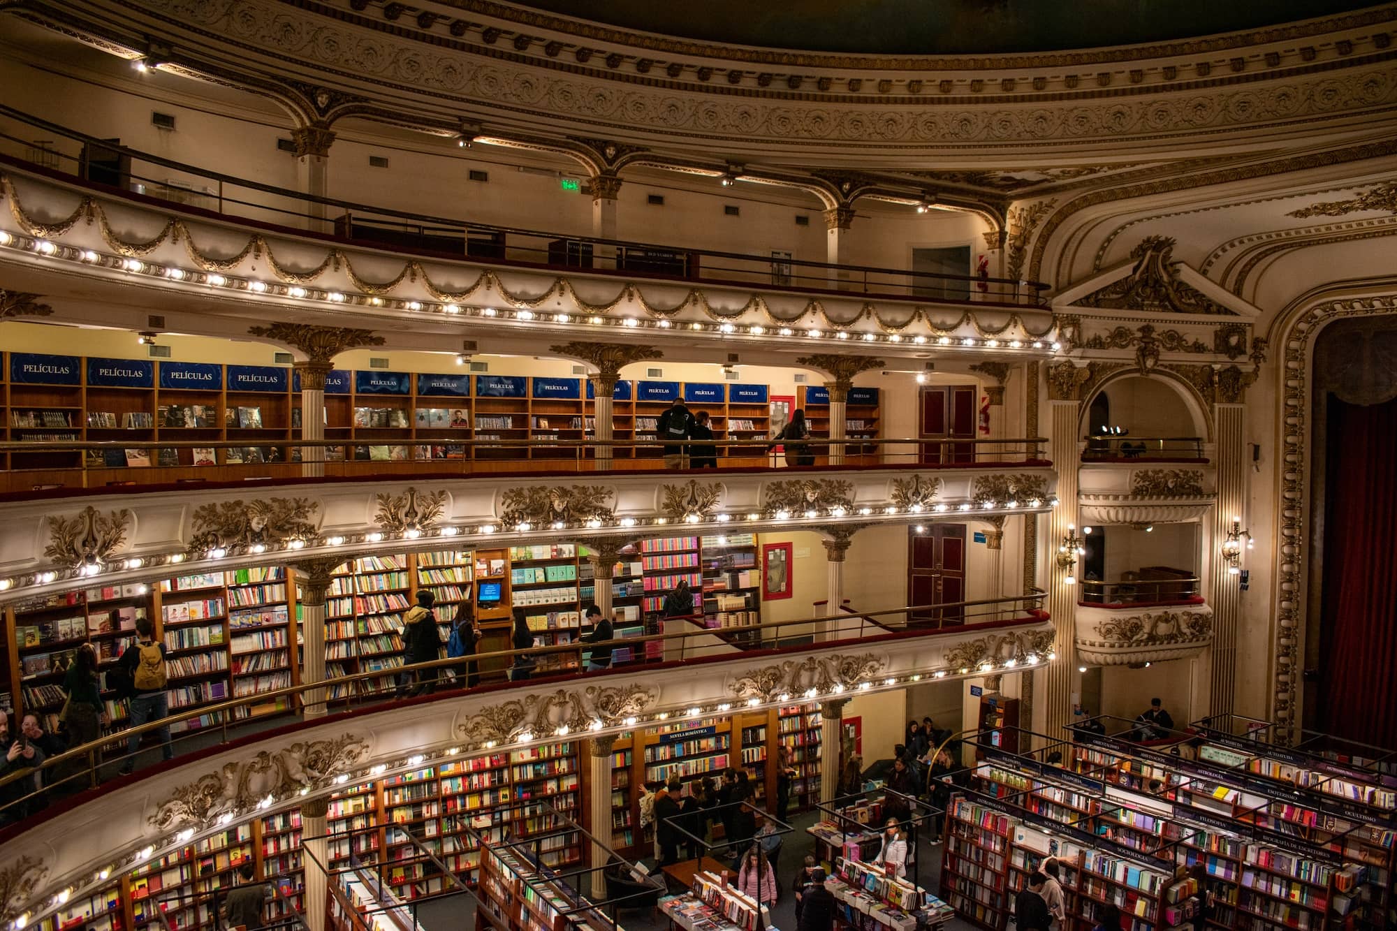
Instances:
[[[1039,496],[985,498],[977,479],[997,471],[1034,475]],[[404,541],[427,545],[448,538],[458,547],[504,547],[559,538],[630,541],[679,526],[694,534],[738,526],[743,531],[834,530],[956,520],[971,510],[977,516],[1044,513],[1056,502],[1055,481],[1042,464],[905,463],[56,488],[11,496],[3,506],[8,533],[0,537],[0,602],[96,582],[152,582],[175,565],[194,573],[317,556],[344,559],[394,552]]]

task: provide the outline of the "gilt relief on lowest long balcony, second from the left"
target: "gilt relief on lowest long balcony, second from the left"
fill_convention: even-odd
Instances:
[[[261,751],[180,786],[156,804],[147,821],[156,830],[183,825],[204,829],[219,815],[256,809],[268,795],[285,798],[302,788],[326,788],[367,755],[369,744],[358,734]]]

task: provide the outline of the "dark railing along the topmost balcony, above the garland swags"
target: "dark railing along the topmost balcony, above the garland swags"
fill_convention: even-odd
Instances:
[[[35,147],[35,134],[45,137]],[[39,161],[35,161],[39,158]],[[785,291],[840,291],[946,303],[1042,306],[1048,285],[875,266],[753,256],[683,245],[518,229],[362,204],[236,178],[144,152],[0,106],[0,161],[24,162],[122,194],[279,226],[379,250],[474,259],[492,264],[578,268],[629,278],[736,284]],[[57,168],[53,168],[57,165]],[[977,295],[972,302],[971,295]]]

